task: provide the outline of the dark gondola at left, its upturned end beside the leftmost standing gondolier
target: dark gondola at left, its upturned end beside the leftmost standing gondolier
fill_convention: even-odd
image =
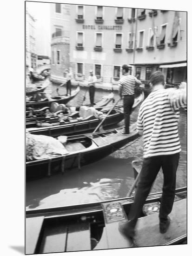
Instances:
[[[52,102],[58,102],[59,104],[66,104],[68,101],[71,101],[80,91],[79,86],[72,91],[70,96],[56,96],[50,99],[46,97],[40,101],[26,101],[26,108],[44,108],[50,107]]]

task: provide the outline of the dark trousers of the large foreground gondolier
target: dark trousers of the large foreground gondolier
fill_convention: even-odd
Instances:
[[[174,155],[160,155],[150,158],[144,158],[140,172],[139,182],[134,196],[134,202],[130,209],[128,219],[130,227],[134,229],[142,207],[152,187],[159,169],[163,170],[163,194],[159,210],[160,222],[166,222],[167,216],[172,211],[172,206],[175,198],[176,187],[176,171],[179,164],[179,153]]]

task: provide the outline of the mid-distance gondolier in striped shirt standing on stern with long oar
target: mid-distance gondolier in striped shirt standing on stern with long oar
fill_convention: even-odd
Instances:
[[[122,98],[123,96],[123,108],[125,118],[125,131],[123,132],[123,134],[129,134],[129,123],[131,109],[134,103],[135,86],[141,84],[141,81],[139,81],[136,77],[130,75],[128,72],[129,67],[127,65],[123,65],[123,77],[119,80],[119,94],[120,98]]]

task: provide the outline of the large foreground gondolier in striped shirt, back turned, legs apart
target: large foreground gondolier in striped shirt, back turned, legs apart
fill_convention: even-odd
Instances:
[[[186,103],[186,83],[179,89],[165,89],[165,77],[161,71],[150,77],[151,94],[140,106],[137,130],[143,134],[144,160],[134,202],[128,215],[128,222],[119,222],[119,231],[128,238],[135,235],[139,214],[150,192],[152,184],[162,168],[164,183],[159,209],[159,231],[166,233],[175,197],[176,171],[181,151],[178,121],[179,107]]]

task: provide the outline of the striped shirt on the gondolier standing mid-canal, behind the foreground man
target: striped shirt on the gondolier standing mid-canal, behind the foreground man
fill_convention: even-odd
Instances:
[[[119,80],[119,86],[122,87],[123,95],[134,95],[136,80],[135,77],[127,74]]]

